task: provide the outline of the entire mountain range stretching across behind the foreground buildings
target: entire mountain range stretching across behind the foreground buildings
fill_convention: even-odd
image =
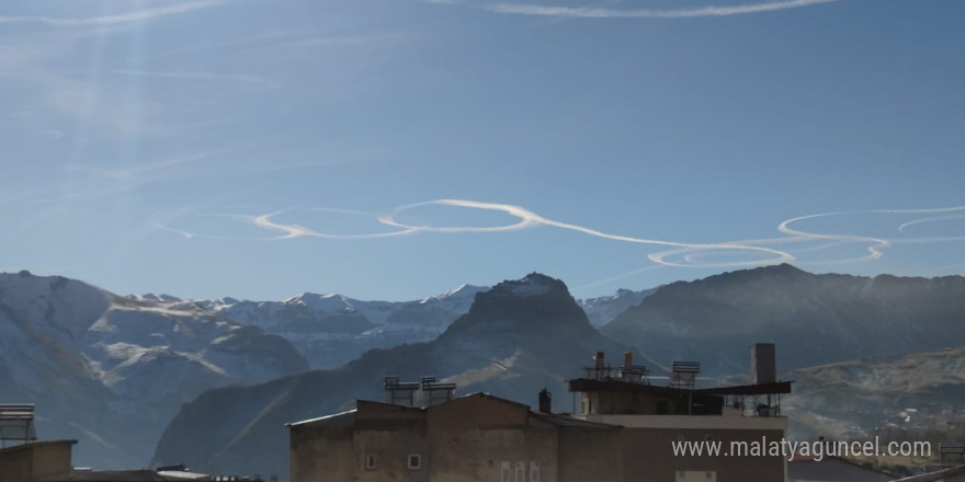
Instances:
[[[870,431],[907,408],[928,413],[916,421],[965,417],[949,409],[957,378],[922,376],[961,368],[963,352],[944,348],[965,346],[962,320],[960,276],[788,265],[590,300],[532,274],[402,302],[118,297],[24,272],[0,275],[0,402],[37,403],[39,435],[80,439],[79,464],[143,467],[161,439],[156,462],[284,474],[285,422],[381,400],[385,375],[435,375],[461,394],[529,404],[546,387],[569,411],[564,380],[597,351],[617,363],[632,345],[658,377],[674,359],[724,376],[747,372],[752,343],[775,342],[779,368],[801,380],[785,411],[792,433]],[[902,358],[918,352],[935,353]],[[309,360],[328,369],[306,371]],[[882,409],[844,403],[854,393]]]

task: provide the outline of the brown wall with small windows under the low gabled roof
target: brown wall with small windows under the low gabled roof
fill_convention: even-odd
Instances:
[[[523,463],[526,480],[533,462],[541,482],[555,482],[557,431],[531,426],[525,405],[489,397],[467,397],[420,411],[364,402],[355,427],[293,425],[293,482],[500,480],[503,462]],[[325,422],[320,423],[321,425]],[[408,468],[409,455],[421,468]],[[375,469],[365,468],[375,456]]]

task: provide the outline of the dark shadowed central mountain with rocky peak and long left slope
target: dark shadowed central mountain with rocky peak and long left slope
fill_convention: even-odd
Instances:
[[[590,325],[563,282],[532,274],[476,295],[469,312],[435,341],[372,351],[333,370],[209,391],[174,418],[155,462],[285,477],[284,424],[350,409],[355,399],[383,400],[387,375],[434,375],[458,383],[457,393],[488,391],[530,404],[546,387],[556,409],[569,411],[564,380],[597,351],[618,357],[624,349]]]

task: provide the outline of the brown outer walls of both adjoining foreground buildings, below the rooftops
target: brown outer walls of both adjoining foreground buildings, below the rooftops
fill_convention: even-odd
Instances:
[[[332,418],[292,427],[293,482],[670,482],[694,474],[716,482],[783,482],[785,458],[674,456],[674,441],[780,443],[787,421],[772,417],[588,415],[592,427],[532,415],[529,408],[469,395],[427,410],[359,404],[348,425]],[[366,469],[366,456],[375,467]],[[410,469],[409,456],[421,467]]]

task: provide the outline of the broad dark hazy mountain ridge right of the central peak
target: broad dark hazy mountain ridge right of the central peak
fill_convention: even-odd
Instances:
[[[965,345],[965,278],[814,275],[790,265],[659,288],[601,331],[658,359],[746,372],[754,342],[782,370]]]

